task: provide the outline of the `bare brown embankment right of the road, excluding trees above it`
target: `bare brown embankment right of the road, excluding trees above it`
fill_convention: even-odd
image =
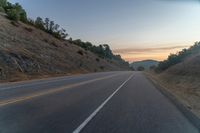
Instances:
[[[160,74],[148,72],[147,75],[200,118],[200,55],[189,57]]]

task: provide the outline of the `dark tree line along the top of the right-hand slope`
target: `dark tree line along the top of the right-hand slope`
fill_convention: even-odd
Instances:
[[[162,72],[169,67],[176,65],[183,60],[185,60],[187,57],[200,53],[200,42],[195,42],[193,46],[191,46],[188,49],[183,49],[182,51],[176,53],[176,54],[170,54],[168,58],[164,61],[161,61],[158,64],[158,67],[155,69],[157,72]]]

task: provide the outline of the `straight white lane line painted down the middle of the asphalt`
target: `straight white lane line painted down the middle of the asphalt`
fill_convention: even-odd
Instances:
[[[105,104],[133,77],[133,74],[124,81],[73,133],[80,133],[81,130],[96,116],[96,114],[105,106]]]

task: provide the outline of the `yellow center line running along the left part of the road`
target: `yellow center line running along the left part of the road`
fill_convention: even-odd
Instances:
[[[40,96],[64,91],[64,90],[69,89],[69,88],[78,87],[78,86],[85,85],[85,84],[88,84],[88,83],[92,83],[92,82],[95,82],[95,81],[108,79],[108,78],[114,77],[116,75],[119,75],[119,74],[114,74],[114,75],[111,75],[111,76],[96,78],[96,79],[92,79],[92,80],[88,80],[88,81],[83,81],[83,82],[80,82],[80,83],[62,86],[62,87],[59,87],[59,88],[56,88],[56,89],[51,89],[51,90],[48,90],[48,91],[38,92],[38,93],[27,95],[27,96],[21,96],[21,97],[18,97],[18,98],[0,101],[0,107],[5,106],[5,105],[9,105],[9,104],[14,104],[14,103],[21,102],[21,101],[25,101],[25,100],[29,100],[29,99],[32,99],[32,98],[36,98],[36,97],[40,97]]]

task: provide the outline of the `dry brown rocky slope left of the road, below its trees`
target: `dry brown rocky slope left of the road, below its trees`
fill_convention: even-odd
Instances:
[[[129,69],[124,61],[101,58],[2,13],[0,25],[0,81]]]

